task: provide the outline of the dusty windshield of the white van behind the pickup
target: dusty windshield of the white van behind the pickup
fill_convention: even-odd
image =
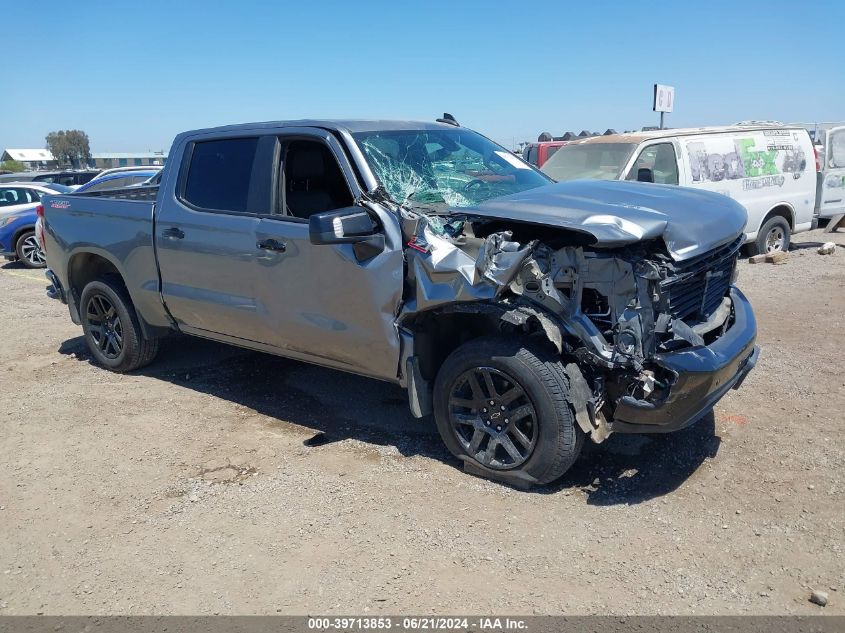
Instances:
[[[574,143],[561,147],[542,171],[557,180],[617,180],[636,148],[635,143]]]

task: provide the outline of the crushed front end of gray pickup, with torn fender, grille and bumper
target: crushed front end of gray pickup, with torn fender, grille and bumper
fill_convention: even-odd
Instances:
[[[683,428],[756,362],[754,316],[732,285],[741,234],[679,260],[661,237],[602,247],[578,231],[471,210],[401,214],[408,287],[397,322],[413,346],[403,369],[418,415],[433,379],[418,359],[437,344],[438,323],[458,319],[460,330],[461,315],[553,345],[578,424],[595,442]],[[452,343],[475,335],[465,329]]]

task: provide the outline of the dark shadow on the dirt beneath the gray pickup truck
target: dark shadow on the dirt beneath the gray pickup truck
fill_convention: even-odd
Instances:
[[[81,336],[58,351],[94,363]],[[405,392],[396,385],[187,336],[163,341],[156,362],[136,373],[313,429],[306,446],[356,439],[461,467],[434,422],[410,415]],[[667,435],[614,435],[598,446],[588,441],[560,481],[534,491],[576,488],[594,505],[640,503],[675,490],[715,456],[719,441],[712,414]]]

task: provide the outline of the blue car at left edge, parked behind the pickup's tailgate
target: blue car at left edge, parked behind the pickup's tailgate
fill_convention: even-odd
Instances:
[[[0,256],[19,260],[27,268],[44,268],[44,251],[35,236],[35,210],[42,196],[72,191],[55,183],[0,183]]]

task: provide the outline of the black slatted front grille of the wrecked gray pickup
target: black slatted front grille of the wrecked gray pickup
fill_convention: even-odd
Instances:
[[[703,320],[719,307],[731,285],[742,242],[740,236],[730,244],[674,265],[674,272],[661,282],[673,318]]]

